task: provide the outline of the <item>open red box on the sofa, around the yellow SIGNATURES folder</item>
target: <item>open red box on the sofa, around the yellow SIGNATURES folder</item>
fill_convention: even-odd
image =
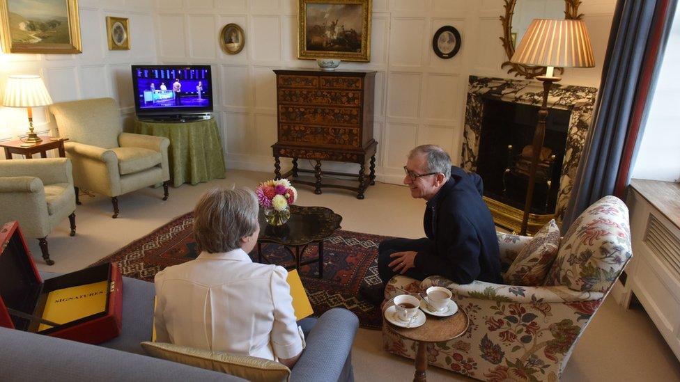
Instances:
[[[0,326],[88,344],[121,334],[123,277],[116,264],[102,264],[43,282],[16,221],[0,228],[0,249]],[[108,282],[103,312],[39,331],[49,292],[102,281]]]

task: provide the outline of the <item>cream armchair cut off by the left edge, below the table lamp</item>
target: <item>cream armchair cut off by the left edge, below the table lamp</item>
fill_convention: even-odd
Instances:
[[[49,258],[47,235],[68,216],[75,235],[75,192],[71,161],[65,158],[0,161],[0,224],[19,221],[27,237],[38,239]]]

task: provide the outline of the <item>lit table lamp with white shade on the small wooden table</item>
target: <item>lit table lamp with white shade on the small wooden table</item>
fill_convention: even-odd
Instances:
[[[40,76],[11,74],[5,86],[5,97],[3,106],[25,107],[29,113],[29,135],[23,140],[25,145],[34,145],[42,142],[42,139],[33,132],[33,110],[32,107],[47,106],[52,104],[52,97],[49,97],[45,83]]]

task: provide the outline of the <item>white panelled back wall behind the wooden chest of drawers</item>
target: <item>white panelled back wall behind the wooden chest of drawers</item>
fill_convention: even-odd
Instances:
[[[520,0],[521,1],[521,0]],[[581,6],[601,63],[615,0]],[[378,180],[401,183],[405,155],[415,145],[437,143],[460,161],[470,74],[508,77],[500,44],[502,0],[373,0],[370,63],[341,63],[341,70],[376,70],[374,134]],[[228,23],[245,31],[245,49],[231,56],[217,36]],[[314,68],[297,57],[296,0],[157,0],[160,63],[208,63],[214,70],[219,116],[229,168],[273,171],[277,68]],[[444,25],[461,32],[463,45],[449,60],[435,56],[432,36]],[[569,70],[562,83],[598,86],[601,67]],[[304,166],[304,163],[302,163]],[[325,164],[353,170],[355,165]]]

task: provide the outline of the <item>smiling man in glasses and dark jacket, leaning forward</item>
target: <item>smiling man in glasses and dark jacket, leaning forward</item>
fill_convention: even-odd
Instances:
[[[496,230],[481,198],[481,177],[451,166],[449,154],[437,145],[411,150],[404,170],[403,183],[412,198],[427,201],[427,237],[380,243],[378,273],[383,285],[363,290],[364,297],[378,305],[385,285],[396,274],[417,280],[438,275],[458,284],[502,282]]]

